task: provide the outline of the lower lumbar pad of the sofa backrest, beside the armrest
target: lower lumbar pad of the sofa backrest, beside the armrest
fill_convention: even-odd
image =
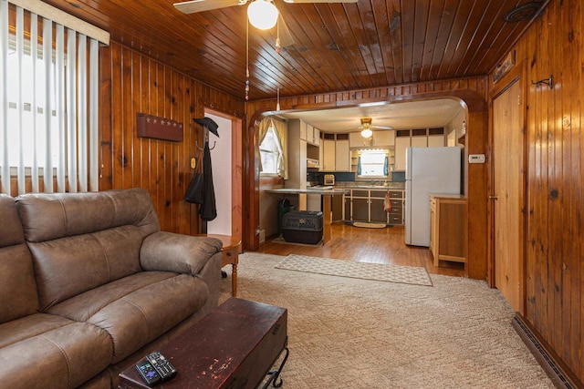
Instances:
[[[141,271],[143,232],[126,225],[110,230],[31,242],[42,311],[79,293]]]

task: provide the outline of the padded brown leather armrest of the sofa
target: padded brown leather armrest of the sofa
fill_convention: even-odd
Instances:
[[[159,231],[144,239],[140,263],[146,271],[197,274],[221,248],[218,239]]]

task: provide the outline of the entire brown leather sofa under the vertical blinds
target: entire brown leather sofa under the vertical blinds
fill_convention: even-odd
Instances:
[[[143,189],[0,195],[0,388],[117,387],[214,308],[220,251]]]

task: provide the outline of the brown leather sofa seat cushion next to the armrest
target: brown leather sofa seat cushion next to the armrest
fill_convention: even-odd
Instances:
[[[105,330],[113,340],[113,363],[117,363],[197,312],[208,296],[206,284],[198,277],[143,271],[80,294],[48,312]]]

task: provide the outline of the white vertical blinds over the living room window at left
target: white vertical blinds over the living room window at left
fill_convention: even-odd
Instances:
[[[0,0],[2,193],[99,189],[99,42],[110,35],[41,1]]]

